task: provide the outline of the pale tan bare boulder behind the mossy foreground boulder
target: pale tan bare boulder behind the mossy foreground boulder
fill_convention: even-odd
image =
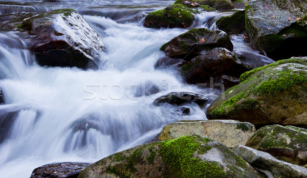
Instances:
[[[235,145],[245,145],[255,132],[255,126],[248,122],[234,120],[178,121],[163,127],[159,134],[159,141],[186,135],[199,135],[233,148]]]

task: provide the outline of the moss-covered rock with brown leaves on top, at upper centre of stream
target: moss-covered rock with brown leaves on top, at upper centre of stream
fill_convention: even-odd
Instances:
[[[188,28],[192,25],[195,14],[214,11],[208,6],[190,6],[183,4],[169,5],[162,10],[150,12],[144,21],[148,28]]]

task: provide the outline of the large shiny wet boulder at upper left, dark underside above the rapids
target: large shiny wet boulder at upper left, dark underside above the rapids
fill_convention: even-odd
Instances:
[[[0,28],[20,31],[19,36],[29,41],[39,65],[95,67],[104,49],[97,33],[73,9],[2,15],[0,21]]]

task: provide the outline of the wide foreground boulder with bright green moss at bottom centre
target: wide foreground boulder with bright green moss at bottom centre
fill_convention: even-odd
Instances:
[[[200,136],[148,143],[110,155],[83,177],[259,177],[225,145]]]

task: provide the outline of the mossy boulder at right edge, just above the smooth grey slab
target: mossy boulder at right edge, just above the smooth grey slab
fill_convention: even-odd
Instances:
[[[257,130],[246,146],[296,165],[307,163],[307,129],[268,125]]]

